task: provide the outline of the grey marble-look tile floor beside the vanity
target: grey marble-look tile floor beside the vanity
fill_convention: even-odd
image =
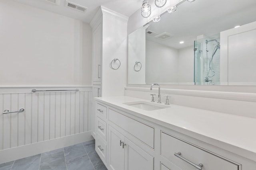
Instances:
[[[95,140],[0,164],[0,170],[107,170]]]

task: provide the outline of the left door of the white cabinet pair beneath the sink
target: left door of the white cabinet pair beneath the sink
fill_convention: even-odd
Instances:
[[[109,126],[108,129],[108,169],[124,170],[124,149],[120,143],[124,142],[124,136]]]

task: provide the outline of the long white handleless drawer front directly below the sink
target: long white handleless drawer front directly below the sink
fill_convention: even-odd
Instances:
[[[154,128],[136,121],[112,109],[108,110],[109,120],[154,149]]]

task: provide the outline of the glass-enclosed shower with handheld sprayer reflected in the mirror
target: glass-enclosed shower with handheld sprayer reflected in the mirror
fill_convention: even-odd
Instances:
[[[194,41],[194,82],[220,85],[220,34],[198,37]]]

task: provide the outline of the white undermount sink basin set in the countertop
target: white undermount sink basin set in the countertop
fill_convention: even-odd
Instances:
[[[138,102],[129,102],[129,103],[123,103],[132,107],[136,107],[139,109],[143,109],[143,110],[158,110],[158,109],[164,109],[164,108],[168,108],[170,106],[164,106],[164,105],[160,105],[160,104],[156,104],[156,103],[151,103],[151,102],[143,102],[143,101],[138,101]]]

